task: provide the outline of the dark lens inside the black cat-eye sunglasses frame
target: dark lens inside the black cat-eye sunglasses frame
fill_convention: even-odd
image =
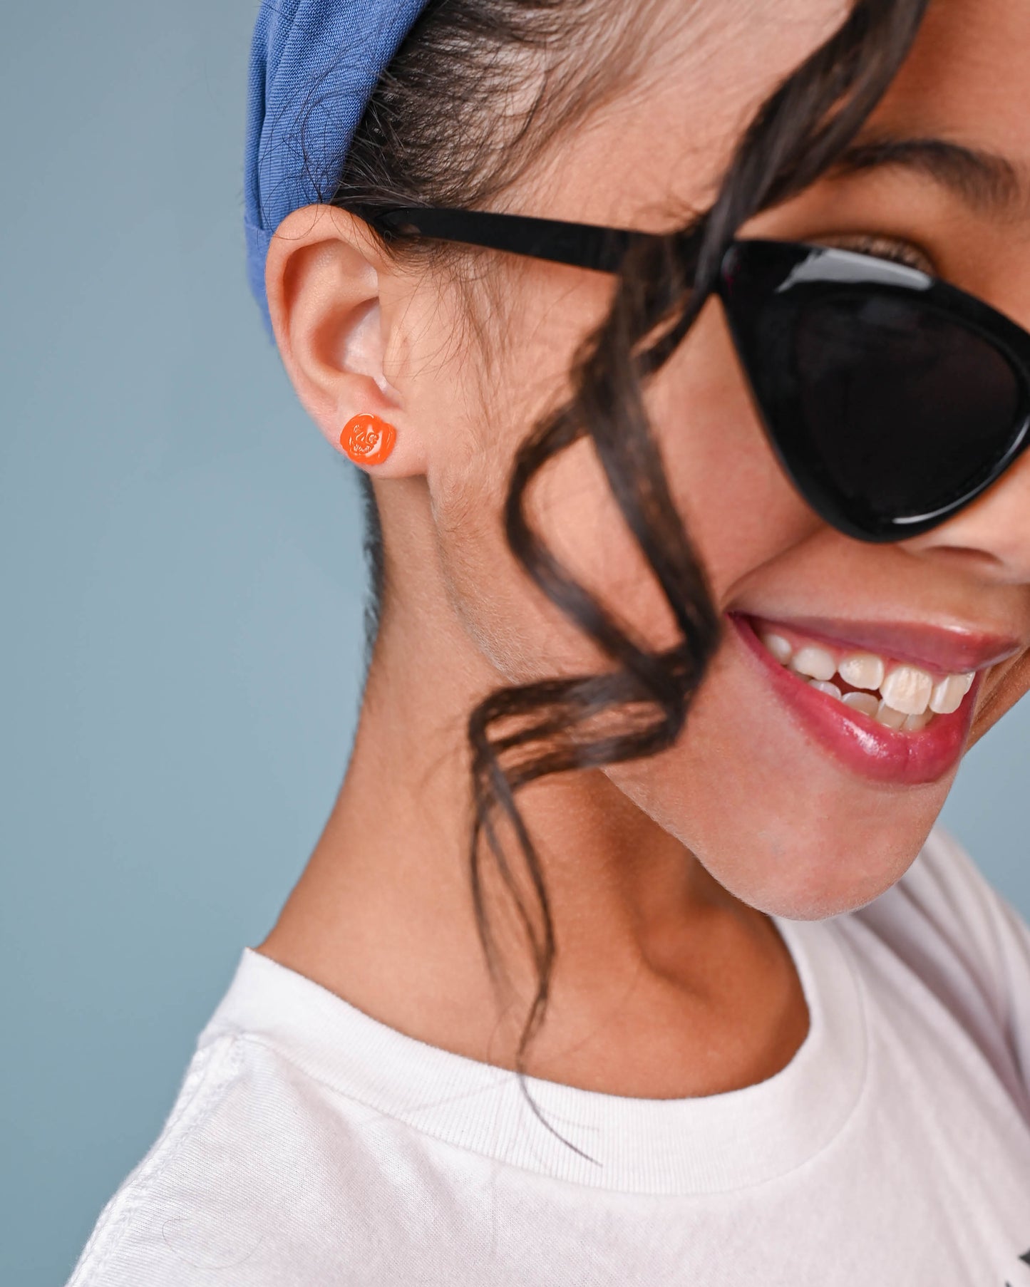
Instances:
[[[899,520],[981,485],[1020,429],[1008,360],[918,297],[841,290],[803,302],[792,356],[798,447],[846,505],[897,524],[897,537]]]

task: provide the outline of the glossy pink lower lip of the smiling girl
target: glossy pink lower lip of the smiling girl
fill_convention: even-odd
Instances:
[[[730,613],[729,616],[736,637],[744,645],[744,651],[761,667],[772,691],[794,721],[851,772],[878,782],[915,786],[921,782],[937,781],[958,762],[969,732],[982,676],[977,674],[962,705],[953,714],[935,716],[926,728],[918,732],[900,732],[886,728],[836,698],[812,689],[805,680],[776,662],[758,640],[747,616],[736,613]],[[846,642],[874,649],[868,634],[863,638],[854,637],[850,624],[851,637]],[[791,625],[802,629],[798,620],[792,620]],[[810,632],[806,629],[805,633]],[[821,637],[837,644],[845,642],[836,633],[827,632]],[[896,638],[897,634],[894,634],[890,650],[882,645],[874,650],[890,651],[892,656],[897,656]],[[969,654],[966,653],[964,656],[968,658]],[[953,665],[953,655],[949,655],[948,663],[935,665],[935,669],[951,673],[973,669],[972,665]],[[927,665],[928,660],[915,664]]]

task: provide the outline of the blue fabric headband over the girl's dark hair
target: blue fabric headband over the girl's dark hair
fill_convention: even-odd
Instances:
[[[427,0],[263,0],[247,95],[247,277],[270,329],[265,259],[294,210],[328,201],[380,73]]]

